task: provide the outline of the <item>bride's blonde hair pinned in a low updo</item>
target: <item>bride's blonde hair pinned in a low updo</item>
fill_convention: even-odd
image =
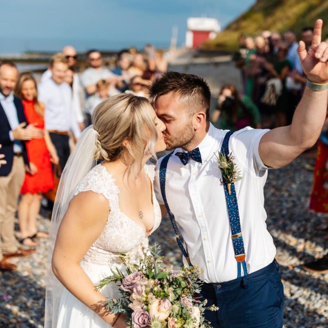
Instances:
[[[128,93],[101,102],[92,113],[93,128],[99,134],[94,158],[110,162],[120,159],[128,174],[140,172],[145,155],[156,158],[158,135],[152,112],[146,98]],[[123,146],[125,140],[128,142]]]

